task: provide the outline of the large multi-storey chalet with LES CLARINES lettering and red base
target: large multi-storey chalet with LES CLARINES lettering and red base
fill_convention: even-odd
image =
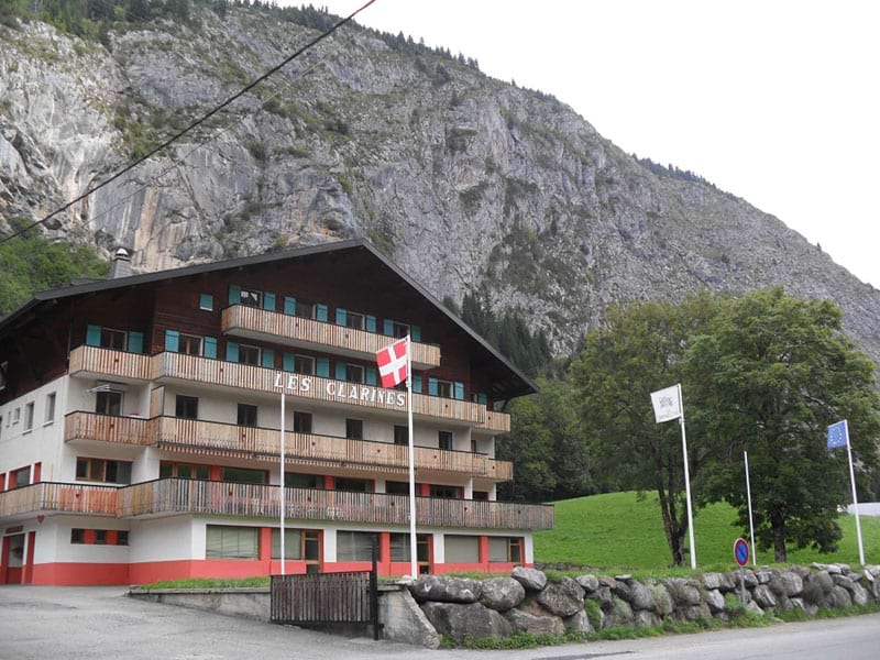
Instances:
[[[535,386],[370,244],[349,241],[37,294],[0,321],[0,583],[409,572],[414,340],[420,570],[531,564],[551,507],[498,502],[499,409]],[[280,392],[286,393],[280,488]]]

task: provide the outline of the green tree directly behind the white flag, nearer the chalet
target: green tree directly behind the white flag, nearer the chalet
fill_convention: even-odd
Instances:
[[[688,517],[681,435],[674,422],[656,424],[650,394],[682,382],[688,404],[692,486],[711,448],[698,392],[682,365],[693,337],[703,333],[723,302],[701,294],[675,306],[637,302],[608,309],[602,328],[586,336],[572,377],[595,479],[603,490],[654,491],[674,564],[684,561]]]

